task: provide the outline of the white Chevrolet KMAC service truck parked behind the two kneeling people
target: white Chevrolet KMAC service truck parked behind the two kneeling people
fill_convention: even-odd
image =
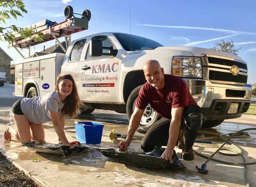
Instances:
[[[15,95],[37,96],[54,90],[56,76],[70,73],[81,100],[95,108],[133,112],[145,83],[143,65],[158,60],[165,73],[183,78],[203,109],[203,127],[240,117],[250,105],[247,64],[221,51],[196,47],[164,47],[153,40],[124,33],[99,33],[73,41],[66,54],[54,53],[15,62]],[[139,132],[146,132],[158,115],[149,105]]]

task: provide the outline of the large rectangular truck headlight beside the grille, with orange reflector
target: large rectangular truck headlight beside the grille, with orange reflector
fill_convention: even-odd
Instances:
[[[202,61],[198,57],[173,57],[172,74],[202,78]]]

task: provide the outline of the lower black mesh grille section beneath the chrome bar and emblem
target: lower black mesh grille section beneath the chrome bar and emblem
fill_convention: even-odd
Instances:
[[[210,80],[220,80],[228,82],[237,82],[237,83],[247,83],[246,75],[233,75],[233,73],[228,72],[218,72],[218,71],[209,71]]]

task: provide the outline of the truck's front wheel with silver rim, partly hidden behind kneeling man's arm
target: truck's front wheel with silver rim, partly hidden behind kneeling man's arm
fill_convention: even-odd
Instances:
[[[137,86],[128,97],[127,105],[126,105],[126,113],[129,121],[134,111],[135,103],[137,101],[137,97],[141,87],[142,85]],[[159,115],[155,112],[155,110],[149,104],[145,108],[145,111],[141,118],[140,126],[136,131],[145,134],[147,130],[152,126],[152,124],[158,121],[158,119],[159,119]]]

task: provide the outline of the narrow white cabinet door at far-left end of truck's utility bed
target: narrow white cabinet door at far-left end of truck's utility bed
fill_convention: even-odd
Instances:
[[[15,65],[15,95],[23,94],[23,64]]]

